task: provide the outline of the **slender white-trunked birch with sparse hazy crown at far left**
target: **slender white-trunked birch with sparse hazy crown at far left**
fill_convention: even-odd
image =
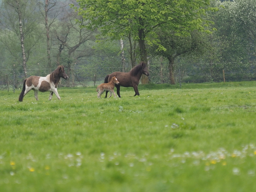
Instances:
[[[38,25],[37,17],[34,16],[35,4],[31,0],[5,0],[2,5],[1,24],[4,28],[4,35],[0,40],[16,61],[21,64],[26,78],[29,55],[40,39],[40,34],[33,33],[37,30]],[[36,35],[38,36],[35,37]],[[11,38],[12,45],[10,45],[9,39],[5,39],[8,36]],[[17,54],[14,48],[17,39],[21,47],[21,54]],[[22,55],[22,62],[19,59],[20,55]]]

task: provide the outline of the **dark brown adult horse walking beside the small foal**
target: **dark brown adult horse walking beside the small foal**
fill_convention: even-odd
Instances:
[[[138,92],[138,84],[140,81],[140,78],[142,74],[145,74],[146,76],[149,76],[149,72],[147,71],[147,65],[145,62],[141,62],[137,66],[133,67],[128,73],[125,72],[114,72],[106,76],[104,83],[107,83],[111,80],[113,76],[115,76],[119,84],[116,85],[116,93],[118,94],[118,97],[121,98],[120,96],[120,86],[124,87],[133,87],[135,91],[135,95],[140,95]],[[107,92],[106,91],[106,97],[107,98]]]

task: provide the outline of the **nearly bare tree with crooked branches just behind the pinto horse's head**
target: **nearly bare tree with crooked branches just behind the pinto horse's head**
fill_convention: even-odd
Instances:
[[[71,80],[74,83],[71,68],[78,59],[92,54],[91,51],[88,51],[86,43],[95,41],[95,31],[81,28],[81,26],[86,26],[87,24],[88,21],[85,21],[82,16],[78,16],[73,9],[68,9],[66,14],[54,26],[55,42],[58,45],[57,65],[61,64],[61,62],[66,63],[67,74],[72,77],[67,83],[70,83]],[[61,58],[63,52],[64,56]]]

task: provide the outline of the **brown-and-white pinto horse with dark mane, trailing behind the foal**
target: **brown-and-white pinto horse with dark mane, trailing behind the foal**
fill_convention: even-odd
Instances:
[[[61,97],[57,92],[57,86],[60,79],[64,78],[67,80],[68,76],[64,71],[63,66],[58,66],[51,74],[48,74],[46,77],[39,77],[39,76],[30,76],[29,78],[25,79],[23,82],[23,88],[21,94],[19,95],[19,101],[22,102],[24,96],[32,89],[35,92],[35,98],[38,100],[38,91],[40,92],[50,92],[50,97],[48,100],[52,99],[53,93],[57,96],[59,100]]]

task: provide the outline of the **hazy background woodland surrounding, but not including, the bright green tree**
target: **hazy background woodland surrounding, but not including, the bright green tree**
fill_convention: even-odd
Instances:
[[[59,86],[95,86],[107,74],[127,72],[141,60],[135,36],[125,31],[113,38],[92,28],[74,9],[75,0],[0,2],[2,89],[20,88],[24,78],[46,76],[59,64],[70,77]],[[216,9],[202,13],[212,21],[204,31],[159,27],[149,33],[151,41],[145,38],[149,82],[219,82],[224,73],[226,81],[256,79],[256,1],[212,0],[208,6]],[[156,34],[158,42],[152,42]]]

